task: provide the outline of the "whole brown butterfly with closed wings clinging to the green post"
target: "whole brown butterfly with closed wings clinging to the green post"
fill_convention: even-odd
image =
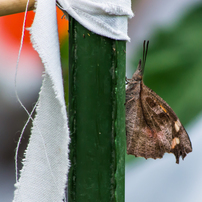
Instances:
[[[127,153],[144,158],[162,158],[173,153],[176,163],[192,151],[189,136],[171,107],[144,85],[142,76],[149,41],[143,43],[143,62],[128,79],[126,88]]]

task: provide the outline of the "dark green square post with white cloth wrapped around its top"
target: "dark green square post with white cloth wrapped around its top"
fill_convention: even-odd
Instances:
[[[68,202],[124,202],[125,41],[70,17]]]

